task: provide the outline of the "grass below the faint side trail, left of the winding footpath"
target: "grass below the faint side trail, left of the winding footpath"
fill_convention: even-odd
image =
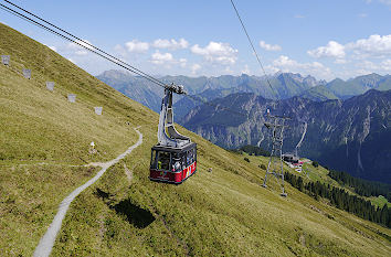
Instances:
[[[31,255],[59,201],[95,172],[95,168],[84,167],[0,168],[0,255]]]

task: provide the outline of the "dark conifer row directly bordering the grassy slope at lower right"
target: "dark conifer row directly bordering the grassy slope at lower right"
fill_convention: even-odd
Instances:
[[[391,228],[391,208],[387,204],[383,207],[377,207],[370,201],[351,195],[344,189],[338,189],[330,184],[326,185],[319,181],[306,183],[302,176],[288,172],[284,176],[294,188],[316,200],[319,200],[319,197],[328,199],[334,206],[340,210]]]

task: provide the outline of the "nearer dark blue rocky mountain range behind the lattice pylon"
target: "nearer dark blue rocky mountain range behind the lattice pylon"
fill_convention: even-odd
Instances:
[[[294,151],[306,128],[302,156],[356,176],[391,183],[391,90],[370,89],[346,100],[326,101],[297,96],[271,100],[239,93],[211,103],[213,106],[192,109],[180,124],[221,147],[257,144],[268,149],[270,131],[264,122],[271,109],[292,118],[285,131],[285,152]]]

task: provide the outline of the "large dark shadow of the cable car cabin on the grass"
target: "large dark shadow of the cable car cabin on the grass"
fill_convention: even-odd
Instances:
[[[133,204],[129,199],[114,206],[117,214],[126,216],[126,219],[137,228],[145,228],[155,221],[154,215],[144,208]]]

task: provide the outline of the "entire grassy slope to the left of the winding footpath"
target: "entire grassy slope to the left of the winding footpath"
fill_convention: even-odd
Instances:
[[[137,141],[133,127],[155,115],[2,24],[0,39],[0,53],[11,55],[10,67],[0,65],[0,256],[31,255],[62,199],[96,171],[68,165],[113,159]],[[46,81],[56,83],[53,93]],[[104,106],[102,116],[94,106]],[[88,153],[91,141],[98,154]]]

